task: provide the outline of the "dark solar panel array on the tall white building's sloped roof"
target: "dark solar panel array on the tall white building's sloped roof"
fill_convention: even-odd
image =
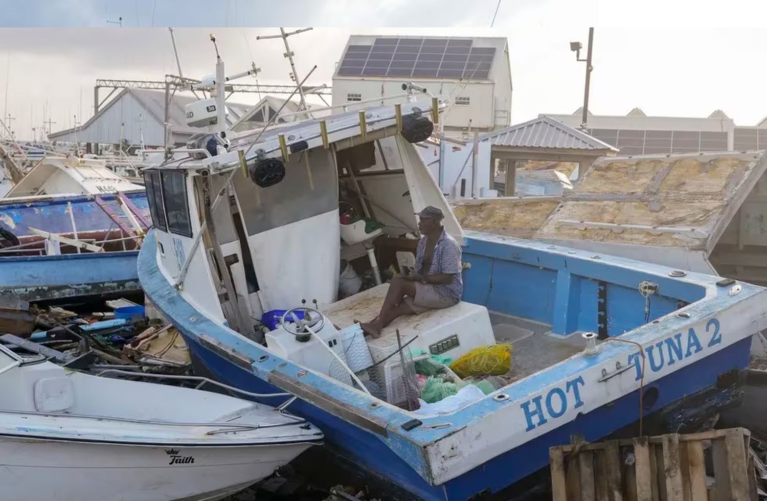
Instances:
[[[487,78],[495,48],[470,38],[376,38],[349,45],[338,74],[363,77]]]

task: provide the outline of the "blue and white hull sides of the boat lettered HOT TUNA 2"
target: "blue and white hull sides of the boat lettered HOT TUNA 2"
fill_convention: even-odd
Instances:
[[[740,296],[731,298],[726,290],[711,288],[716,279],[705,275],[672,282],[663,278],[668,269],[637,269],[642,263],[608,256],[595,260],[567,249],[472,236],[464,251],[464,259],[472,263],[464,280],[465,300],[492,308],[525,308],[532,318],[551,310],[559,315],[553,321],[556,331],[558,325],[575,321],[596,322],[596,312],[593,320],[581,318],[584,305],[579,307],[571,298],[574,291],[584,293],[593,287],[595,305],[597,284],[593,278],[581,283],[575,277],[557,279],[548,270],[548,274],[535,271],[538,267],[563,270],[559,275],[612,280],[615,292],[610,300],[616,321],[607,325],[607,334],[641,344],[647,354],[646,372],[642,370],[640,378],[644,366],[639,363],[640,353],[634,351],[637,348],[609,343],[593,357],[578,354],[541,368],[493,397],[451,414],[419,416],[422,423],[406,430],[402,425],[413,414],[380,405],[374,397],[350,391],[311,371],[301,371],[300,366],[206,318],[166,281],[154,246],[150,235],[140,252],[143,288],[186,338],[193,358],[206,371],[247,391],[279,388],[298,395],[301,400],[291,404],[291,412],[317,424],[334,450],[423,499],[469,499],[480,493],[498,493],[544,468],[548,447],[568,443],[571,434],[598,440],[634,423],[639,417],[640,387],[646,398],[644,414],[703,391],[716,394],[723,374],[746,368],[751,335],[764,326],[761,288],[744,285]],[[563,259],[566,267],[561,265]],[[513,281],[502,279],[509,269],[528,262],[534,266],[529,276],[519,273]],[[650,277],[678,294],[674,297],[686,297],[693,303],[686,308],[686,316],[674,315],[679,306],[670,303],[668,311],[660,314],[662,321],[643,325],[642,316],[637,317],[644,315],[643,308],[621,305],[619,285],[635,287],[640,279]],[[548,287],[547,299],[535,305],[524,302],[530,294],[518,294],[521,281],[526,287]],[[638,295],[630,289],[625,293]],[[519,304],[512,304],[515,301]],[[628,323],[621,325],[621,321],[632,317],[637,317],[632,322],[640,328],[628,334],[624,328]],[[655,396],[650,398],[652,394]]]

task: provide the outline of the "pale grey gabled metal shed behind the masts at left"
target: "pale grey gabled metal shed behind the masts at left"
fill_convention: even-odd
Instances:
[[[186,125],[186,105],[198,101],[193,95],[176,93],[170,101],[168,123],[170,142],[176,145],[201,129]],[[226,103],[227,124],[231,127],[252,106]],[[165,144],[165,93],[125,88],[98,113],[78,127],[48,134],[61,143],[128,144],[162,147]]]

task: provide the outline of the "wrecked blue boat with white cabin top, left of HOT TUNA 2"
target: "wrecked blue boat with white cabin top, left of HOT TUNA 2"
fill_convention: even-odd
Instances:
[[[140,292],[127,211],[139,226],[149,222],[142,186],[100,160],[46,158],[0,199],[0,294],[49,301]]]

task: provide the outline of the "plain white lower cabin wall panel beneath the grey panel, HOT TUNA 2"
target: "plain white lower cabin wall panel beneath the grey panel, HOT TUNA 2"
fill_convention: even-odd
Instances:
[[[338,209],[249,236],[264,311],[335,302],[340,241]]]

